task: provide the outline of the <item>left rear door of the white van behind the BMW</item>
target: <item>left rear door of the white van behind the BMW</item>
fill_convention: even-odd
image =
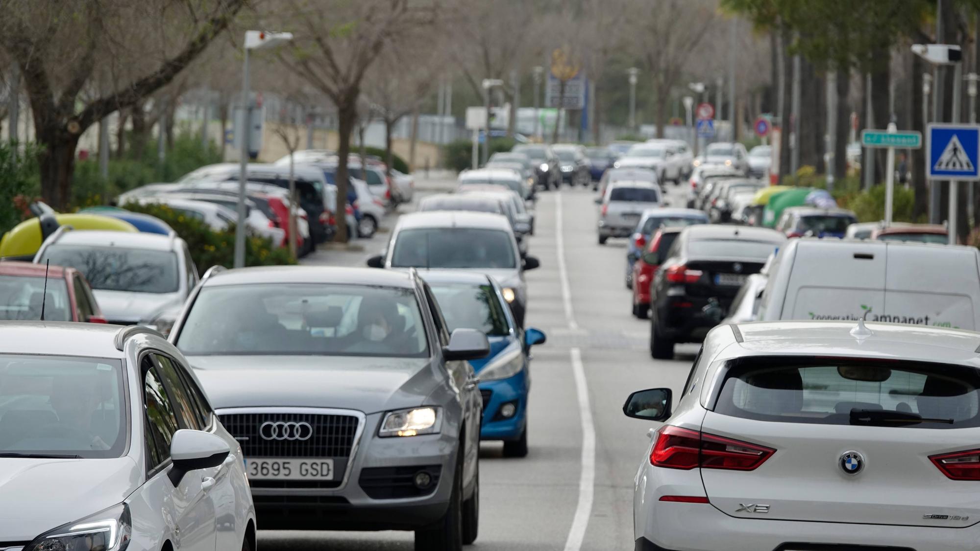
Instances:
[[[797,246],[779,319],[860,319],[885,309],[884,243],[808,240]],[[774,305],[778,307],[778,305]]]

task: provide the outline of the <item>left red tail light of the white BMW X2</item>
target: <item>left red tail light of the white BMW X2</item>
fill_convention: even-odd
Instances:
[[[650,452],[650,464],[685,471],[697,467],[753,471],[776,452],[771,447],[670,425],[661,427],[656,438]],[[980,450],[973,453],[980,453]]]

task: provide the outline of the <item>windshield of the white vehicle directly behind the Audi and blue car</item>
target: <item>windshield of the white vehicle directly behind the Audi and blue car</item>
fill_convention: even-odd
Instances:
[[[516,267],[511,234],[483,228],[419,228],[404,230],[395,240],[393,267],[510,268]]]

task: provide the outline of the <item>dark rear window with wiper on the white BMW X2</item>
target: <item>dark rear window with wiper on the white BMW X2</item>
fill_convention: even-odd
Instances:
[[[729,362],[714,411],[819,425],[922,429],[980,426],[975,369],[849,358],[742,358]]]

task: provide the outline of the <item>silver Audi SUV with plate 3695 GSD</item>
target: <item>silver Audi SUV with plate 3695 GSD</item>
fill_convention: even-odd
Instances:
[[[416,549],[476,538],[482,399],[414,270],[209,270],[171,342],[241,442],[262,528],[415,530]]]

